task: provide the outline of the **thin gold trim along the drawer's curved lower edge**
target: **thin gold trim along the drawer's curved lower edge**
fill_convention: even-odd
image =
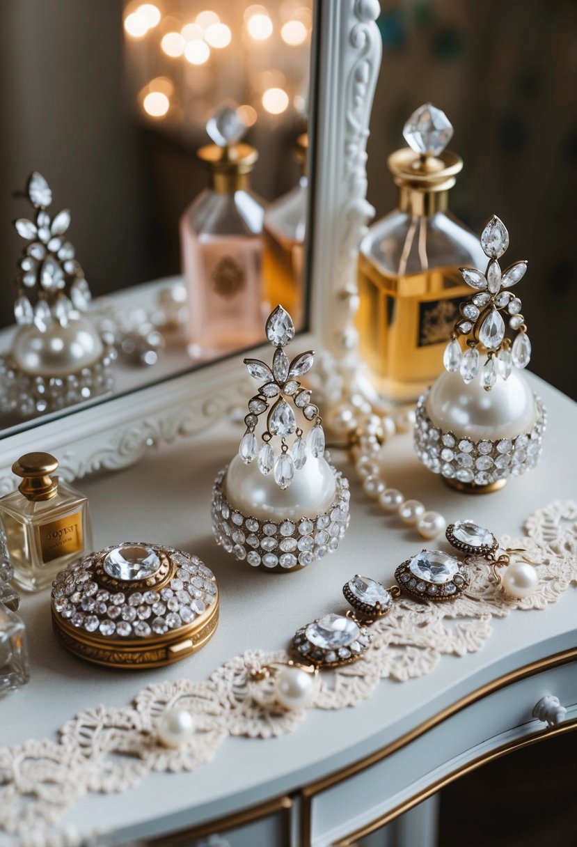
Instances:
[[[476,759],[467,762],[466,765],[461,765],[461,767],[455,768],[454,771],[447,773],[444,777],[437,779],[434,783],[427,786],[426,789],[422,789],[417,792],[417,794],[413,794],[412,797],[409,797],[408,800],[404,800],[403,803],[399,803],[393,809],[389,809],[389,811],[386,811],[381,817],[377,817],[375,821],[365,824],[364,827],[355,830],[354,833],[345,835],[343,839],[333,841],[332,847],[354,847],[354,844],[356,844],[358,839],[365,838],[366,835],[371,835],[371,833],[376,832],[377,829],[380,829],[386,826],[387,823],[392,822],[396,817],[404,815],[406,811],[410,811],[415,805],[419,805],[419,803],[422,803],[424,800],[428,800],[433,794],[437,794],[438,791],[441,791],[447,785],[453,783],[456,779],[464,777],[468,773],[477,770],[477,768],[487,765],[496,759],[500,759],[508,753],[513,753],[514,750],[522,750],[524,747],[529,747],[530,745],[536,744],[538,741],[543,741],[544,739],[551,738],[555,735],[562,735],[575,729],[577,729],[577,717],[571,721],[561,723],[557,727],[546,727],[541,729],[538,733],[531,733],[529,736],[525,736],[525,738],[508,741],[506,744],[496,747],[494,750],[483,753],[481,756],[477,756]]]

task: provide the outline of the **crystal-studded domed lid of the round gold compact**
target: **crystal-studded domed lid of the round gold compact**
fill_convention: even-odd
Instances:
[[[103,588],[94,579],[94,565],[103,554],[112,556],[120,568],[130,569],[135,563],[126,559],[121,562],[119,548],[107,547],[58,573],[51,595],[52,609],[58,618],[87,633],[113,639],[142,639],[192,623],[216,601],[216,579],[198,556],[143,541],[129,544],[145,547],[149,556],[156,555],[157,551],[167,553],[175,574],[170,582],[156,591]],[[151,561],[149,559],[149,564]]]

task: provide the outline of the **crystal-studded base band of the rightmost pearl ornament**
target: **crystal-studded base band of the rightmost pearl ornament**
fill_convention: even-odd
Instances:
[[[530,433],[514,439],[459,438],[453,432],[442,432],[426,412],[428,391],[420,397],[415,419],[415,450],[420,461],[433,473],[445,479],[475,485],[489,485],[509,476],[535,468],[541,447],[547,416],[536,397],[536,423]]]

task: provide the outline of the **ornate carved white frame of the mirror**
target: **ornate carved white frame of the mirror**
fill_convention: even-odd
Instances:
[[[321,353],[316,368],[325,406],[349,389],[356,367],[356,262],[365,224],[366,140],[381,60],[378,0],[316,0],[310,142],[310,331],[304,347]],[[264,331],[264,329],[263,329]],[[258,352],[250,355],[260,355]],[[194,435],[245,401],[239,357],[31,424],[0,440],[0,494],[10,471],[36,450],[58,456],[65,479],[124,468],[150,446]]]

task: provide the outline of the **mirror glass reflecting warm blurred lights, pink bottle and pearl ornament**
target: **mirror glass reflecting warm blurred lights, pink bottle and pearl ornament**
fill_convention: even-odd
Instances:
[[[62,111],[59,146],[23,144],[27,170],[41,169],[34,179],[50,201],[53,190],[53,206],[47,194],[35,202],[29,182],[31,213],[19,199],[6,207],[25,246],[10,245],[11,258],[22,256],[13,291],[6,285],[2,293],[3,323],[15,318],[0,330],[2,436],[254,345],[278,302],[298,328],[305,323],[311,0],[214,0],[211,9],[195,0],[124,3],[116,20],[94,9],[90,21],[75,21],[88,71],[76,78],[78,57],[57,49],[58,26],[74,21],[59,20],[58,10],[44,19],[41,0],[34,3],[31,42],[44,39],[40,51],[57,51],[63,64],[41,77],[43,100],[56,106],[58,81],[71,108]],[[86,30],[104,34],[121,22],[122,41],[107,41],[111,69],[102,69]],[[107,86],[108,102],[100,91],[95,97],[93,76]],[[30,80],[33,97],[31,88]],[[83,141],[65,125],[86,103],[99,134]],[[59,113],[53,109],[52,121]],[[135,141],[131,149],[115,122]],[[126,192],[103,192],[110,213],[104,199],[94,202],[100,195],[75,194],[79,180],[92,179],[76,159],[93,157],[96,147],[100,182],[116,180],[116,193]],[[24,181],[21,159],[9,163],[9,189]],[[72,208],[77,252],[63,205]],[[125,237],[113,241],[113,228]],[[103,273],[108,242],[117,274]],[[123,257],[134,257],[129,268]]]

